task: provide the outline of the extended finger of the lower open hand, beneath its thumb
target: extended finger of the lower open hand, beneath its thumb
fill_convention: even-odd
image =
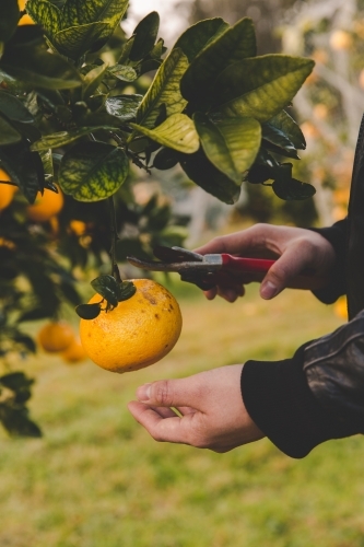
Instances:
[[[134,419],[146,429],[155,441],[190,444],[188,442],[188,428],[185,427],[185,417],[162,418],[153,407],[137,401],[129,403],[128,408]],[[187,421],[189,421],[188,417]]]

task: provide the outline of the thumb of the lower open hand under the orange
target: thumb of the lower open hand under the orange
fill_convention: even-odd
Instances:
[[[201,388],[197,376],[144,384],[138,387],[137,398],[152,406],[197,408],[201,399]]]

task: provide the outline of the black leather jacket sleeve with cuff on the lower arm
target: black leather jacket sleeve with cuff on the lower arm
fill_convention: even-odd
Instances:
[[[242,394],[259,429],[292,457],[364,433],[364,311],[292,359],[246,362]]]

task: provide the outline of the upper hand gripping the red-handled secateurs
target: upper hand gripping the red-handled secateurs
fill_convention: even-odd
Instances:
[[[302,228],[270,224],[255,224],[247,230],[215,237],[196,252],[202,255],[228,253],[278,258],[261,281],[260,295],[265,300],[277,296],[305,270],[310,270],[312,276],[328,278],[336,260],[332,245],[322,235]],[[242,278],[232,275],[231,278],[228,286],[206,291],[206,296],[213,300],[219,294],[228,302],[235,302],[244,295],[244,284],[256,280],[248,276]]]

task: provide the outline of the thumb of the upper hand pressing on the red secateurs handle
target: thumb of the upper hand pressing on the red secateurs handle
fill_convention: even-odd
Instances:
[[[271,266],[260,286],[260,296],[271,300],[285,289],[290,281],[307,268],[307,260],[303,246],[295,245],[286,249]]]

